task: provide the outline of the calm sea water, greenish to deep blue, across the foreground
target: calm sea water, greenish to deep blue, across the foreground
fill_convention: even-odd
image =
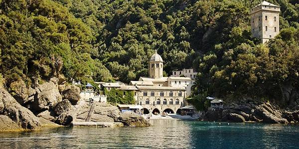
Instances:
[[[0,133],[1,149],[299,149],[299,125],[151,120],[150,127]]]

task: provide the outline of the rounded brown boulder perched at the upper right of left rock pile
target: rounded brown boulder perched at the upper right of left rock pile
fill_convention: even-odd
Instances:
[[[80,88],[75,85],[59,85],[62,99],[68,99],[72,105],[76,105],[80,100]]]

